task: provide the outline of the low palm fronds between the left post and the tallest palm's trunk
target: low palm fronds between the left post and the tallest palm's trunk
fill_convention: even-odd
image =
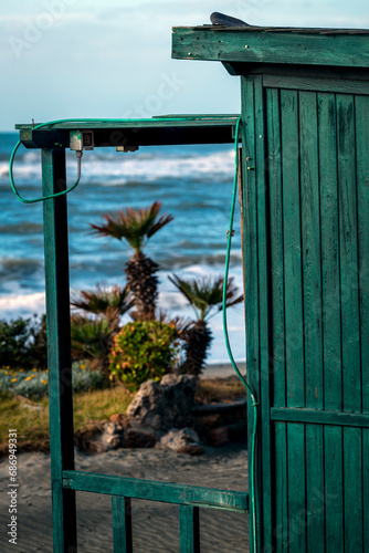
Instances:
[[[118,315],[124,315],[134,305],[128,286],[120,288],[115,284],[107,288],[96,285],[95,291],[81,290],[72,296],[71,304],[88,313],[104,314],[110,309],[117,310]]]

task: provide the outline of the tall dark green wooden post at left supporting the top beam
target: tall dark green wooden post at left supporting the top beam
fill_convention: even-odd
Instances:
[[[42,150],[43,195],[65,189],[65,150]],[[76,551],[75,492],[63,470],[74,469],[70,278],[66,197],[43,202],[51,482],[54,552]]]

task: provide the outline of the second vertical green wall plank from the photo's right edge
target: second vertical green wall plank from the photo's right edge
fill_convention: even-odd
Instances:
[[[361,369],[358,293],[358,225],[355,104],[337,95],[337,153],[341,282],[344,410],[360,411]],[[361,430],[344,428],[345,551],[362,547]]]

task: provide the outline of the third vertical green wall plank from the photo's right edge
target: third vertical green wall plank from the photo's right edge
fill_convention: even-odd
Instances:
[[[341,410],[341,332],[335,94],[318,94],[324,406]],[[326,551],[344,551],[342,430],[324,429]]]

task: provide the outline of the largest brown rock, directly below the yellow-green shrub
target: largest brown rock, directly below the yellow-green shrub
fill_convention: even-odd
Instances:
[[[183,428],[192,424],[196,377],[166,375],[160,383],[147,380],[127,409],[130,421],[156,430]]]

